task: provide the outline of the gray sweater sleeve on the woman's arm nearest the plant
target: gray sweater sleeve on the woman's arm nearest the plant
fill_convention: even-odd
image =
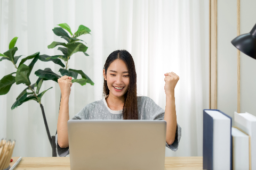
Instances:
[[[81,111],[79,111],[75,116],[72,117],[72,120],[82,120],[82,119],[86,119],[86,115],[88,114],[88,110],[87,110],[87,106],[86,105]],[[55,143],[57,146],[57,153],[60,157],[64,157],[69,155],[69,147],[67,148],[61,148],[59,146],[58,143],[58,133],[55,135]]]

